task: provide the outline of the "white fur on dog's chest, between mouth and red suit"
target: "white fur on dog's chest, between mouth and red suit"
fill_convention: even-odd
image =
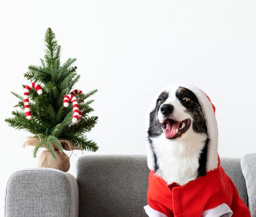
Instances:
[[[156,174],[167,184],[175,182],[185,185],[197,178],[200,152],[204,148],[207,135],[193,136],[193,134],[193,131],[188,132],[184,136],[189,139],[184,139],[182,142],[177,140],[170,143],[164,134],[152,139],[159,166]]]

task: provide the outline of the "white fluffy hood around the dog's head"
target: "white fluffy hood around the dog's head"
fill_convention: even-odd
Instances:
[[[215,107],[211,103],[209,97],[202,91],[202,89],[188,84],[174,84],[167,86],[160,92],[158,92],[158,94],[153,98],[152,102],[150,103],[150,106],[146,113],[146,147],[148,168],[150,170],[155,170],[155,157],[148,138],[148,128],[150,123],[149,114],[150,112],[155,110],[157,98],[164,90],[168,92],[170,90],[177,90],[179,87],[185,87],[187,89],[190,89],[198,98],[198,101],[202,109],[202,113],[204,114],[204,119],[207,127],[207,134],[209,138],[207,147],[206,171],[208,172],[210,170],[214,170],[218,167],[218,126],[215,117]]]

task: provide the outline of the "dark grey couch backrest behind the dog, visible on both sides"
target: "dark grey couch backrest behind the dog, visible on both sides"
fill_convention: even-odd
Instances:
[[[221,165],[247,204],[240,159],[222,158]],[[147,216],[148,174],[145,155],[87,155],[77,162],[79,217]]]

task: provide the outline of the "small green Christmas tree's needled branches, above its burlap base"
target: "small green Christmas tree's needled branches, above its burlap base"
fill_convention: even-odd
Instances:
[[[38,95],[36,89],[31,88],[28,91],[30,106],[26,106],[25,97],[23,100],[21,95],[11,92],[20,99],[14,107],[19,107],[21,110],[13,111],[11,113],[13,117],[7,118],[5,121],[15,129],[26,130],[34,134],[33,137],[38,141],[35,144],[34,157],[39,148],[44,147],[56,161],[56,151],[63,152],[62,140],[70,141],[77,149],[95,152],[98,150],[97,144],[88,140],[84,133],[92,130],[98,117],[88,116],[93,111],[90,107],[93,100],[85,103],[83,101],[96,93],[97,89],[87,94],[76,95],[79,111],[83,114],[77,123],[72,123],[72,103],[68,107],[64,107],[63,99],[66,94],[70,94],[80,78],[80,75],[76,74],[77,67],[73,66],[76,59],[69,58],[61,65],[61,46],[57,44],[52,29],[47,29],[44,40],[46,49],[45,59],[40,59],[42,65],[30,65],[29,71],[24,74],[30,82],[36,81],[40,84],[43,94]],[[23,88],[25,87],[26,85],[23,85]],[[31,110],[31,120],[26,117],[25,107],[29,107]]]

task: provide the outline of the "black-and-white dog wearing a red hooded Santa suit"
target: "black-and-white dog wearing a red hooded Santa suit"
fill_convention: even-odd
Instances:
[[[146,120],[148,216],[250,216],[220,166],[215,107],[201,89],[164,88]]]

